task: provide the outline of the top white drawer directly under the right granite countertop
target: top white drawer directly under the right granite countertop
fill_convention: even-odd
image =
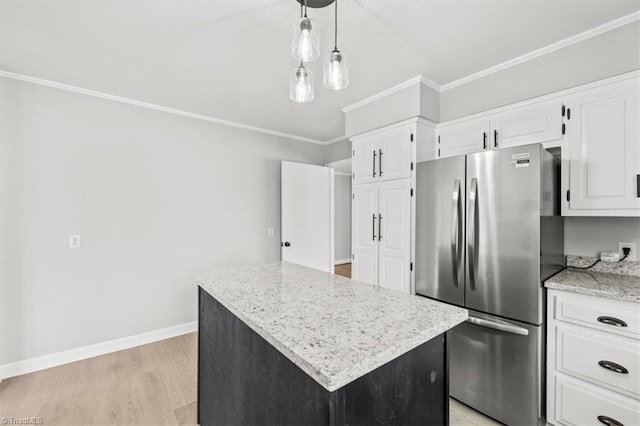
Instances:
[[[553,295],[555,292],[549,292]],[[555,298],[555,319],[597,330],[640,338],[640,306],[637,303],[603,299],[575,293]]]

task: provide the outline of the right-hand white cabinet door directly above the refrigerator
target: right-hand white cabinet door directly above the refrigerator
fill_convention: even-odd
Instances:
[[[491,118],[491,146],[542,143],[562,139],[562,102],[518,108]]]

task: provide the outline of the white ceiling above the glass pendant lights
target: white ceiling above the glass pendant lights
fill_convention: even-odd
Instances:
[[[417,75],[446,84],[640,9],[640,1],[340,0],[351,85],[288,98],[294,0],[6,1],[0,67],[86,89],[328,141],[342,108]],[[323,53],[333,8],[310,9]]]

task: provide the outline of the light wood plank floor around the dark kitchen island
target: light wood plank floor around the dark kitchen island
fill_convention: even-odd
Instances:
[[[196,333],[0,383],[0,420],[44,425],[183,425],[196,422]],[[498,423],[450,400],[451,425]]]

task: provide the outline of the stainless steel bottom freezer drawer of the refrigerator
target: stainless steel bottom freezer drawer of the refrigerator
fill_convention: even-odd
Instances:
[[[543,328],[470,311],[449,331],[450,395],[509,425],[543,417]]]

